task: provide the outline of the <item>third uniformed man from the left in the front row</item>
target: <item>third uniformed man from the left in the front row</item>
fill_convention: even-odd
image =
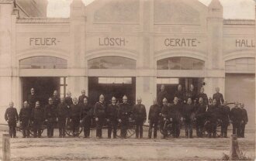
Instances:
[[[33,136],[34,138],[41,137],[42,126],[44,121],[44,110],[40,107],[40,102],[36,101],[35,108],[31,113],[31,119],[33,121]]]

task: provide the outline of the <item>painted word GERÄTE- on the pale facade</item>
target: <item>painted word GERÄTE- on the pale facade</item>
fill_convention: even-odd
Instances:
[[[165,46],[172,47],[196,47],[200,42],[192,38],[168,38],[164,39]]]

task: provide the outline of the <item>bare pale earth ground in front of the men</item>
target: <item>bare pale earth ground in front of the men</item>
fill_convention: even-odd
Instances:
[[[57,130],[53,139],[22,139],[20,133],[18,137],[11,139],[12,160],[219,160],[223,152],[229,154],[230,145],[230,139],[59,139]],[[238,142],[240,150],[255,159],[254,132]]]

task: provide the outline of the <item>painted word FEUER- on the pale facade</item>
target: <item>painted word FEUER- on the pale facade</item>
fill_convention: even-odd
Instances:
[[[57,40],[57,38],[54,37],[30,37],[29,38],[29,45],[30,46],[56,46],[57,43],[60,41]]]

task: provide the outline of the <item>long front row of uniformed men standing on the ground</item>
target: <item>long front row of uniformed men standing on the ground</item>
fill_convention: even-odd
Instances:
[[[92,118],[95,117],[96,122],[96,136],[102,137],[102,125],[105,121],[108,123],[108,136],[116,138],[116,128],[118,122],[121,125],[121,137],[126,138],[127,128],[131,118],[136,122],[136,137],[143,137],[143,125],[147,119],[146,108],[141,104],[141,98],[137,99],[137,104],[132,108],[127,103],[126,96],[123,97],[123,103],[117,105],[116,98],[112,98],[112,104],[108,107],[104,104],[104,96],[99,97],[99,102],[92,107],[88,104],[88,98],[84,98],[82,104],[78,104],[78,99],[73,98],[71,106],[65,103],[65,99],[61,98],[61,103],[55,108],[53,99],[49,98],[49,104],[45,108],[40,107],[40,102],[36,101],[35,108],[31,110],[27,101],[24,102],[19,116],[16,108],[13,108],[13,103],[10,103],[10,108],[5,112],[5,119],[9,122],[10,135],[16,137],[16,122],[21,122],[23,137],[29,135],[28,125],[29,121],[33,121],[34,137],[40,137],[40,130],[43,121],[47,122],[47,136],[54,135],[54,122],[58,122],[60,137],[65,135],[65,124],[67,118],[71,118],[74,135],[78,135],[78,126],[80,122],[84,125],[85,138],[89,136],[90,126],[92,125]],[[157,124],[162,121],[171,120],[173,124],[174,137],[178,137],[180,133],[180,121],[185,122],[185,135],[192,138],[192,122],[196,121],[196,134],[202,137],[202,128],[206,122],[209,122],[209,136],[216,136],[216,121],[222,121],[222,135],[227,137],[227,126],[230,120],[233,123],[233,132],[238,136],[244,137],[244,127],[247,123],[247,112],[244,109],[244,104],[238,108],[238,103],[235,108],[227,106],[227,102],[223,105],[216,104],[216,99],[213,104],[206,105],[203,103],[203,98],[199,98],[199,104],[192,104],[192,98],[188,98],[186,104],[179,104],[178,98],[175,97],[173,104],[168,104],[166,98],[163,99],[163,105],[159,106],[157,101],[150,107],[148,119],[150,123],[149,138],[151,138],[152,128],[154,128],[154,138],[157,137]],[[42,115],[44,114],[44,115]],[[164,125],[164,124],[161,124]],[[241,128],[241,130],[240,130]],[[167,136],[164,132],[164,138]]]

